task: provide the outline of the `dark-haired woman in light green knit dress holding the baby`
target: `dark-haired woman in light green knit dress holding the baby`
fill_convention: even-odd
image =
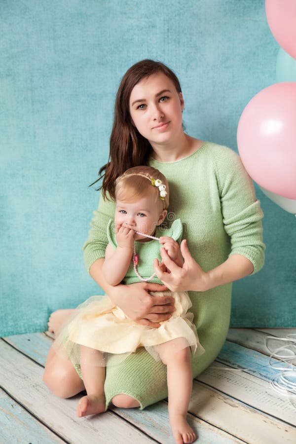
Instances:
[[[148,291],[189,291],[190,311],[205,349],[202,356],[192,358],[195,377],[215,360],[225,341],[231,283],[263,265],[263,215],[237,154],[185,134],[183,109],[180,83],[165,65],[143,60],[124,75],[116,95],[109,162],[100,170],[103,192],[84,244],[84,259],[89,274],[112,302],[140,324],[159,326],[174,310],[170,296],[150,296]],[[171,273],[163,272],[157,260],[154,269],[164,286],[111,287],[102,265],[108,244],[106,227],[114,214],[114,182],[138,165],[157,168],[170,184],[168,220],[184,222],[184,265],[176,265],[162,249],[162,260]],[[65,369],[71,363],[59,359],[54,352],[49,355],[44,380],[54,393],[66,398],[84,386],[74,367],[63,370],[63,365]],[[107,368],[105,394],[106,405],[112,402],[118,407],[144,408],[164,399],[165,366],[140,348],[118,367]]]

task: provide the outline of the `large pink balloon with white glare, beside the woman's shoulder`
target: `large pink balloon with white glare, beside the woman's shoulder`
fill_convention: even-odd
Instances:
[[[276,83],[253,97],[240,117],[237,145],[254,181],[296,199],[296,82]]]

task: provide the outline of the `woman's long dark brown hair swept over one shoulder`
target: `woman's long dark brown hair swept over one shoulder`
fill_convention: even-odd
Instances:
[[[110,137],[110,153],[106,165],[99,170],[99,178],[103,178],[102,189],[104,198],[115,198],[115,180],[128,168],[148,164],[151,145],[132,124],[129,112],[131,92],[137,83],[152,74],[162,72],[170,78],[178,93],[181,92],[180,82],[166,65],[154,60],[142,60],[133,65],[123,76],[119,85],[114,107],[114,120]],[[91,186],[90,185],[90,186]],[[108,193],[108,194],[106,194]]]

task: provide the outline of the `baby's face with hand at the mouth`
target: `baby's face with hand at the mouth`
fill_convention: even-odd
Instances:
[[[165,214],[163,217],[164,212],[161,207],[161,200],[159,205],[155,204],[155,198],[153,195],[142,197],[135,202],[117,200],[114,222],[115,224],[131,228],[134,231],[153,235],[156,226],[160,225],[165,217]],[[135,240],[148,239],[139,234],[136,234],[134,238]]]

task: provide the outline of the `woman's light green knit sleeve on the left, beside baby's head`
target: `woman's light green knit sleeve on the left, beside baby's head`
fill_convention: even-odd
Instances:
[[[107,226],[110,219],[114,219],[115,203],[103,199],[100,196],[99,207],[94,211],[94,217],[90,223],[91,229],[88,239],[83,245],[84,264],[89,272],[90,266],[97,260],[105,258],[108,245]]]

